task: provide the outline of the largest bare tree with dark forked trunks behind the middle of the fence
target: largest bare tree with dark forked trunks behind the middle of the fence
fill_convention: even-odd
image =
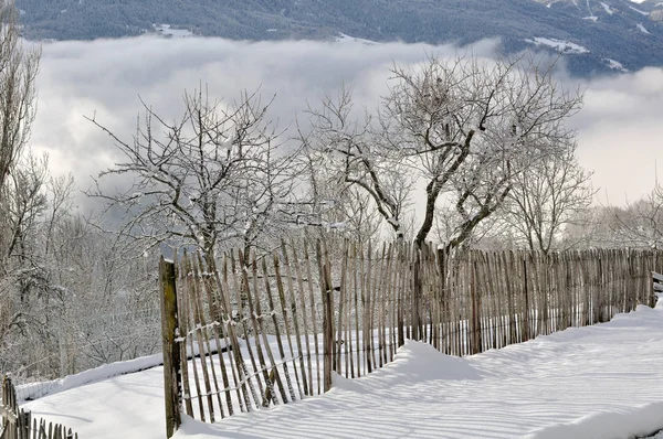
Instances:
[[[454,248],[504,203],[514,175],[572,139],[565,121],[581,96],[559,89],[551,68],[463,56],[396,66],[376,120],[351,119],[344,92],[313,113],[305,144],[327,152],[345,184],[370,194],[397,235],[403,201],[423,197],[418,244],[429,236],[441,196],[452,199],[459,224],[446,246]],[[423,196],[415,195],[417,181],[424,182]]]

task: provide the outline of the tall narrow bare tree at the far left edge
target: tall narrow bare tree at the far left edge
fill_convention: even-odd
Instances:
[[[10,259],[32,259],[20,247],[42,206],[40,167],[30,169],[36,163],[28,160],[28,167],[19,169],[36,110],[40,51],[23,47],[18,15],[13,1],[0,1],[0,342],[21,322],[14,292],[18,285],[22,291],[27,288],[25,270]]]

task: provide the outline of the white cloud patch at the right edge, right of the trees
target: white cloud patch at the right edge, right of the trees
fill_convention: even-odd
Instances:
[[[663,167],[663,69],[597,78],[585,87],[585,106],[571,121],[579,160],[594,171],[602,203],[634,201],[653,189],[656,164]]]

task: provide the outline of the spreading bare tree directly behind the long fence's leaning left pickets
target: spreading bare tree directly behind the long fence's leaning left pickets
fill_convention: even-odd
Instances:
[[[278,132],[265,120],[270,103],[256,94],[227,106],[197,90],[183,101],[183,116],[172,124],[144,104],[146,117],[131,141],[91,118],[124,157],[101,176],[133,182],[119,193],[97,182],[88,195],[124,212],[122,235],[146,248],[193,245],[211,263],[219,245],[256,245],[291,213],[292,157],[277,151]]]

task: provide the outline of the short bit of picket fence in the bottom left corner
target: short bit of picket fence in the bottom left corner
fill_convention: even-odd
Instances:
[[[78,439],[78,435],[64,426],[33,419],[30,411],[19,408],[17,390],[7,376],[2,377],[0,401],[0,439]]]

